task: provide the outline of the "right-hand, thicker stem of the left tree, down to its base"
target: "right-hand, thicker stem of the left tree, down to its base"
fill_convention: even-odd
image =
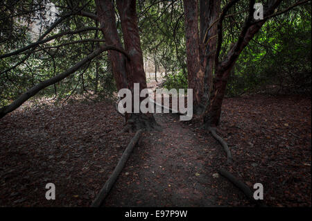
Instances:
[[[121,19],[121,28],[123,30],[123,42],[125,51],[130,55],[130,61],[127,62],[127,72],[129,87],[132,90],[135,83],[139,83],[139,91],[146,89],[146,75],[144,72],[143,53],[139,37],[139,28],[137,26],[136,1],[117,0],[117,9]],[[133,96],[132,96],[133,97]],[[144,100],[145,98],[140,98]],[[134,100],[134,99],[132,99]],[[134,107],[134,105],[132,105]],[[157,129],[158,125],[152,113],[126,114],[126,120],[132,130]]]

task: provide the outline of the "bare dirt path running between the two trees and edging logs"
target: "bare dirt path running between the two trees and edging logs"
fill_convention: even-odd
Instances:
[[[173,114],[155,114],[161,132],[145,132],[105,200],[105,206],[216,206],[212,136],[202,136]],[[219,150],[220,151],[219,151]],[[222,184],[221,184],[222,186]]]

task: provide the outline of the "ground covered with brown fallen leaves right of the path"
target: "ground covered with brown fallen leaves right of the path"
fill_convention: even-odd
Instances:
[[[260,182],[268,206],[311,206],[311,98],[227,98],[218,132],[234,157],[228,169],[252,188]]]

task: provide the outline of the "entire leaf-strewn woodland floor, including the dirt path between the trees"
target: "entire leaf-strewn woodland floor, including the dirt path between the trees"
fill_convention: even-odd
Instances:
[[[254,206],[220,177],[220,166],[268,206],[311,206],[311,98],[225,98],[220,144],[200,122],[155,114],[161,132],[144,132],[105,206]],[[19,109],[0,121],[0,206],[89,206],[133,133],[109,102]],[[45,199],[45,185],[56,200]]]

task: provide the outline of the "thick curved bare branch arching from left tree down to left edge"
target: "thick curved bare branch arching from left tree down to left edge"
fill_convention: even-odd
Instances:
[[[80,69],[80,67],[82,67],[84,64],[91,61],[96,56],[100,55],[103,51],[108,51],[108,50],[119,51],[119,52],[125,54],[126,56],[128,55],[127,53],[125,53],[125,51],[123,49],[116,48],[114,46],[103,46],[102,45],[102,46],[100,46],[100,48],[96,49],[96,51],[87,55],[87,57],[85,57],[83,60],[80,60],[80,62],[77,62],[75,65],[73,65],[73,67],[71,67],[71,68],[67,69],[66,71],[58,74],[57,76],[54,76],[53,78],[50,78],[48,80],[44,80],[44,81],[40,82],[39,84],[35,85],[31,89],[28,89],[28,91],[26,91],[26,93],[21,94],[21,96],[19,96],[19,98],[17,98],[12,103],[10,103],[10,105],[2,107],[0,109],[0,118],[3,118],[3,116],[6,116],[6,114],[17,109],[17,107],[21,106],[26,100],[28,100],[32,96],[35,96],[35,94],[37,94],[42,89],[44,89],[50,85],[53,85],[56,82],[59,82],[60,80],[63,80],[64,78],[69,76],[71,73]],[[127,58],[130,58],[129,55],[127,56]]]

